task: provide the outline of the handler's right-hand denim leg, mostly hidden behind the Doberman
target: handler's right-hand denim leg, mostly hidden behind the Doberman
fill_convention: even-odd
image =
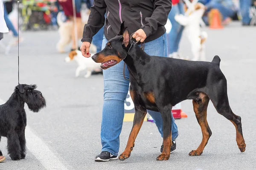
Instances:
[[[161,56],[167,57],[167,36],[163,34],[163,36],[159,37],[158,39],[145,43],[144,51],[151,55],[151,56]],[[157,50],[156,50],[157,49]],[[148,114],[154,119],[154,123],[157,125],[158,131],[160,132],[161,136],[163,137],[163,119],[160,112],[150,111],[147,110]],[[171,113],[172,114],[172,113]],[[177,125],[175,124],[175,119],[172,115],[172,122],[171,122],[171,130],[172,130],[172,140],[178,137],[178,129]]]

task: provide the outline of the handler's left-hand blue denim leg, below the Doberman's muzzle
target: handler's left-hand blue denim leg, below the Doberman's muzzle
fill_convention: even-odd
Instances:
[[[108,41],[103,38],[102,49]],[[119,135],[124,119],[124,102],[128,94],[129,81],[123,77],[123,65],[118,64],[103,70],[104,102],[102,111],[101,142],[102,151],[108,151],[117,156],[119,151]],[[128,68],[125,77],[129,78]]]

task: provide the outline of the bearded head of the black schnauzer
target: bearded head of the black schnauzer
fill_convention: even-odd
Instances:
[[[35,90],[37,85],[20,84],[15,87],[15,92],[20,96],[23,102],[26,102],[29,109],[38,112],[46,107],[46,101],[41,91]]]

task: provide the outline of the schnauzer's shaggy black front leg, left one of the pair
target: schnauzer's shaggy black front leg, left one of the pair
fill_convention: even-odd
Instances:
[[[19,136],[16,132],[10,133],[7,137],[7,149],[8,154],[10,154],[10,157],[12,160],[18,161],[20,160],[20,140]]]

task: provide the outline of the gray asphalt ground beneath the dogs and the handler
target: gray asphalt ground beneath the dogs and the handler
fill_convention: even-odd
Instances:
[[[75,78],[76,63],[65,63],[65,54],[58,54],[57,31],[23,32],[20,44],[20,83],[37,84],[47,99],[47,108],[39,113],[27,112],[27,156],[12,161],[7,154],[6,138],[0,148],[6,161],[0,170],[255,170],[256,160],[256,54],[255,27],[232,23],[222,30],[204,28],[207,61],[215,55],[221,58],[221,70],[228,82],[228,96],[234,113],[241,116],[246,151],[240,153],[233,124],[208,107],[208,122],[212,130],[204,153],[191,157],[201,142],[201,128],[193,112],[192,101],[181,107],[188,117],[176,119],[179,130],[177,150],[168,161],[156,161],[162,144],[154,123],[144,122],[137,136],[131,157],[125,161],[95,162],[101,152],[100,129],[103,104],[103,78],[95,75]],[[3,43],[9,41],[6,34]],[[70,46],[66,48],[70,50]],[[191,56],[185,34],[180,52]],[[0,98],[6,101],[17,85],[17,47],[6,56],[0,51]],[[120,151],[125,149],[132,122],[124,122],[120,136]]]

